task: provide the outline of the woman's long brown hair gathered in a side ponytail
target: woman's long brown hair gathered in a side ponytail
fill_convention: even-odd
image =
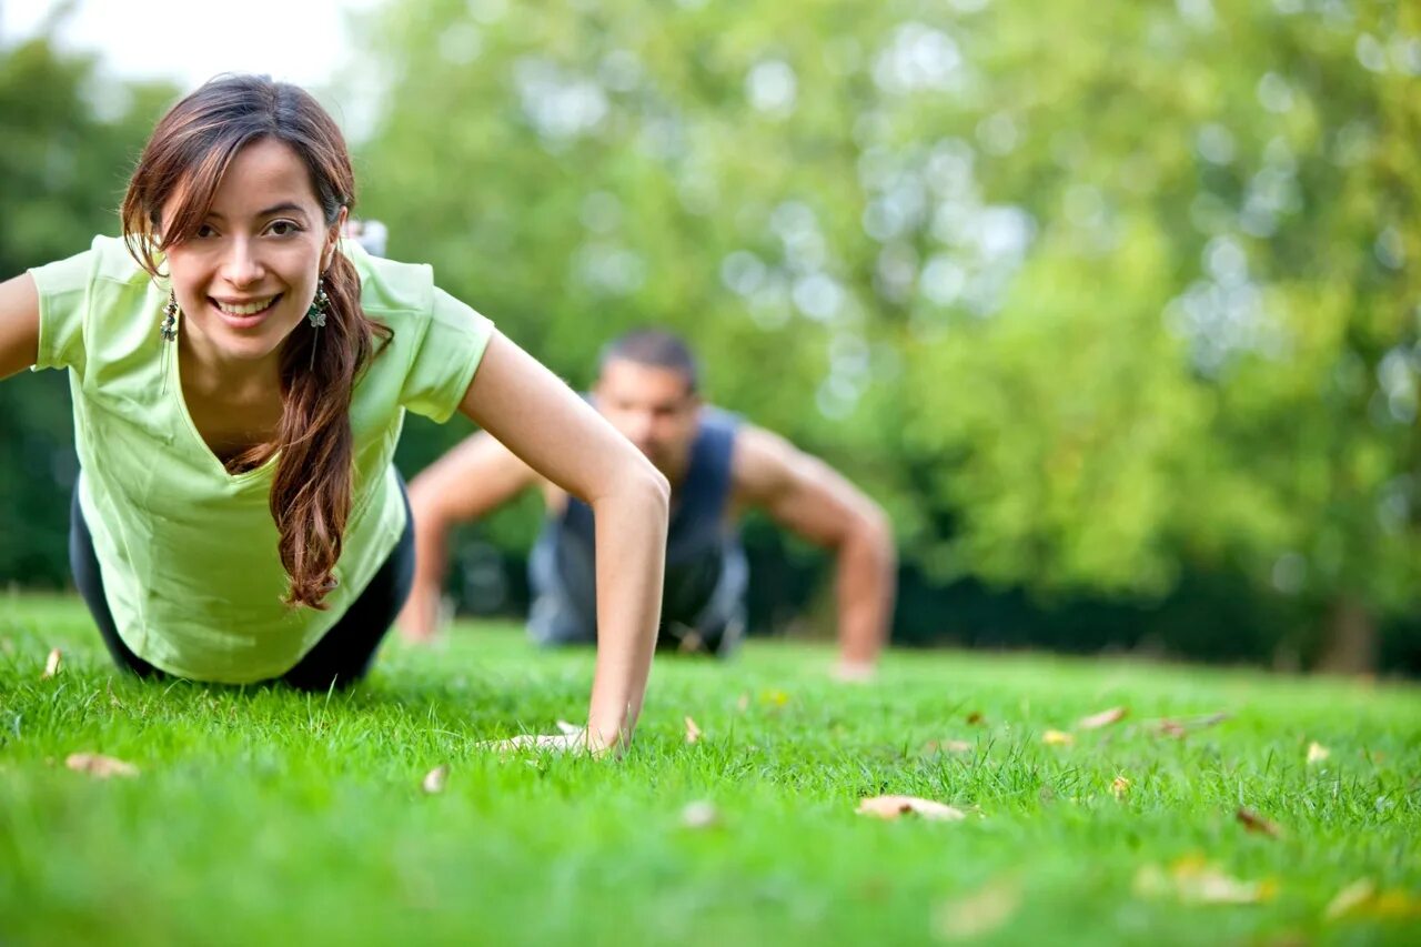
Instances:
[[[355,176],[345,138],[304,90],[259,75],[212,80],[158,122],[124,196],[124,239],[152,276],[156,255],[202,226],[237,152],[261,139],[288,145],[311,173],[325,226],[355,203]],[[163,205],[173,202],[168,220]],[[279,454],[271,518],[281,565],[291,577],[287,604],[324,609],[351,508],[350,405],[357,377],[391,330],[360,306],[360,276],[340,249],[325,270],[325,327],[296,331],[281,346],[281,425],[276,441],[227,461],[232,472]],[[317,338],[320,340],[317,344]],[[313,351],[314,348],[314,351]]]

